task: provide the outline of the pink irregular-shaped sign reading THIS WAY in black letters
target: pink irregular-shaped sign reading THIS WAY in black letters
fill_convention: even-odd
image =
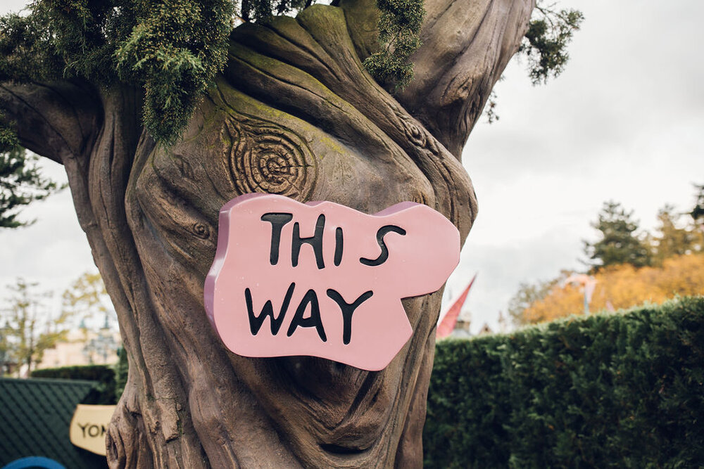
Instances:
[[[367,215],[241,195],[220,210],[206,311],[236,354],[320,356],[377,371],[413,333],[401,298],[439,290],[459,259],[459,232],[427,205]]]

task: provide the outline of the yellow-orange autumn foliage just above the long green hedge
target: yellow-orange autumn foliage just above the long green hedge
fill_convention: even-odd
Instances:
[[[622,309],[651,302],[660,304],[675,295],[704,295],[704,254],[670,257],[660,267],[630,264],[599,272],[590,311]],[[524,310],[524,322],[552,321],[584,311],[584,290],[578,285],[555,285],[543,300]]]

